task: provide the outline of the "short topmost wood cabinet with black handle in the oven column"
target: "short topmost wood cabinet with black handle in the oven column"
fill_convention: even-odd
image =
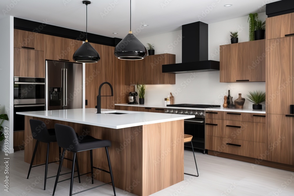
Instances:
[[[44,51],[44,34],[14,29],[14,48]]]

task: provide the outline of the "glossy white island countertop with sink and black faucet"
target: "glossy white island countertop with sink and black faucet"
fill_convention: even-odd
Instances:
[[[101,114],[97,114],[96,108],[68,109],[68,110],[46,110],[33,112],[16,112],[16,114],[61,120],[72,123],[81,123],[99,127],[121,129],[141,125],[163,123],[174,120],[194,118],[194,115],[166,114],[152,112],[136,112],[125,110],[101,109]],[[125,114],[110,114],[113,112]]]

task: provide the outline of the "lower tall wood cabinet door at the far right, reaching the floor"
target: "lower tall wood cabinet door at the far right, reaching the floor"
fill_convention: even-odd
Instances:
[[[268,114],[268,160],[293,164],[293,117]]]

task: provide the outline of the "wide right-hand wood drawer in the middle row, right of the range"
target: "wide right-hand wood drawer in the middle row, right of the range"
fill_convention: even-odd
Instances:
[[[265,143],[265,124],[225,120],[225,138]]]

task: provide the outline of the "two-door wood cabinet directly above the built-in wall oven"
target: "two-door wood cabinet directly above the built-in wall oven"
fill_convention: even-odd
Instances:
[[[45,78],[44,51],[14,48],[14,76]]]

